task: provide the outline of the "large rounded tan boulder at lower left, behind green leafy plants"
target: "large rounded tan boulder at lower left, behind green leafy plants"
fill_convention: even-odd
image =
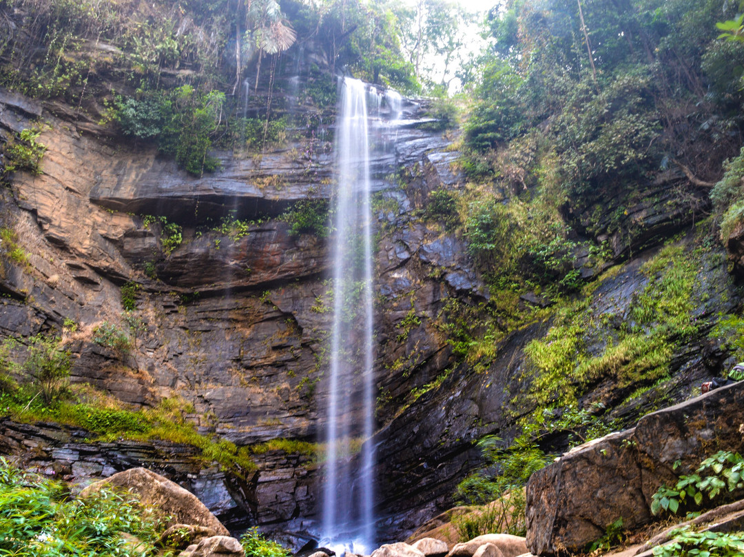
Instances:
[[[164,517],[170,517],[167,526],[176,523],[190,524],[204,526],[217,535],[230,535],[228,529],[222,526],[196,495],[147,468],[131,468],[106,480],[92,483],[80,492],[80,497],[86,497],[104,487],[121,488],[137,495],[142,505],[152,506]]]

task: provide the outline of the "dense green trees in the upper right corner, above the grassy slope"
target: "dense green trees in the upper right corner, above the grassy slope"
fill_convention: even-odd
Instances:
[[[736,10],[721,0],[505,1],[479,60],[466,170],[498,179],[493,153],[539,129],[569,197],[678,164],[719,176],[742,140],[744,44],[716,28]]]

